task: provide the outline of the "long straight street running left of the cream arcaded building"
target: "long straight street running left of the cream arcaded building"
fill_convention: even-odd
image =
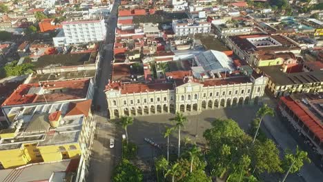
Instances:
[[[94,104],[99,105],[100,112],[95,112],[97,121],[97,131],[95,133],[95,141],[93,143],[92,160],[90,162],[89,174],[87,181],[110,181],[112,169],[116,162],[115,154],[121,153],[121,145],[115,145],[114,149],[110,149],[110,138],[115,137],[116,128],[108,122],[108,108],[104,89],[110,78],[111,61],[113,59],[113,43],[115,41],[115,28],[117,27],[117,10],[119,0],[113,5],[111,16],[108,19],[106,42],[102,46],[101,52],[104,54],[99,65],[99,73],[97,76],[97,90],[95,90]],[[97,108],[97,107],[96,107]]]

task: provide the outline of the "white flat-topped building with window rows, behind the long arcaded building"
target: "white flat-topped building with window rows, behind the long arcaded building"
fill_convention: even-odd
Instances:
[[[193,19],[174,19],[172,27],[176,36],[211,32],[211,23],[207,21],[195,21]]]

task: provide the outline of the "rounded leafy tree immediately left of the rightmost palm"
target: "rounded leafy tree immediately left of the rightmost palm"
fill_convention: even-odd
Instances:
[[[266,139],[264,143],[257,142],[253,148],[252,161],[254,163],[254,169],[258,172],[282,172],[280,167],[280,151],[277,149],[273,141]]]

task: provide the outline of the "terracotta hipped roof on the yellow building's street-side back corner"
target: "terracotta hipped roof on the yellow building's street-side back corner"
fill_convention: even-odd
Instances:
[[[91,99],[77,102],[77,103],[72,102],[70,103],[70,105],[68,105],[68,112],[66,113],[66,116],[84,114],[86,117],[88,117],[91,104],[92,104]]]

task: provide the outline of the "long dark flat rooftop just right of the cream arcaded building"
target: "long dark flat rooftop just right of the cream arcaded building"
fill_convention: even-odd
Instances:
[[[313,72],[282,72],[282,65],[271,65],[259,67],[276,85],[295,85],[306,83],[317,83],[323,81],[322,71]]]

